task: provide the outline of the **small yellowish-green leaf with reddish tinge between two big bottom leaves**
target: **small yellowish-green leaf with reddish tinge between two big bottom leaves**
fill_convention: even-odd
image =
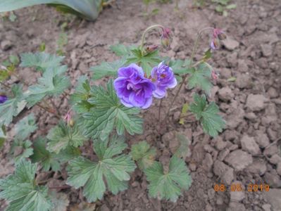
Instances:
[[[141,170],[150,167],[154,163],[156,148],[150,148],[146,141],[140,141],[132,145],[132,159],[137,161]]]

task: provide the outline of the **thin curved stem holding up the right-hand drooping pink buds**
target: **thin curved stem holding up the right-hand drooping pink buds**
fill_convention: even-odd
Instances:
[[[206,27],[202,30],[200,30],[198,32],[198,36],[196,38],[196,41],[194,43],[194,47],[192,49],[192,56],[190,58],[190,63],[188,65],[188,68],[192,68],[193,67],[193,59],[194,59],[194,56],[195,56],[195,53],[197,51],[197,47],[198,47],[198,44],[199,44],[199,39],[201,38],[201,34],[202,32],[204,32],[205,30],[213,30],[214,28],[213,27]],[[197,63],[196,63],[197,64]],[[195,65],[196,65],[195,64]],[[183,77],[182,77],[182,82],[180,83],[180,87],[179,89],[177,89],[177,93],[175,94],[173,100],[170,102],[170,106],[168,107],[168,111],[167,111],[167,114],[166,114],[166,117],[164,118],[164,121],[166,121],[166,119],[168,118],[168,115],[170,113],[170,109],[172,108],[173,104],[175,103],[175,99],[177,98],[177,96],[180,94],[180,90],[182,89],[182,86],[183,84],[185,84],[185,80],[187,79],[187,74],[185,74]]]

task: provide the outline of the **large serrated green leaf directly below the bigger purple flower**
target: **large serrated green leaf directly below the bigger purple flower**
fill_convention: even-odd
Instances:
[[[113,89],[112,81],[103,87],[92,87],[92,98],[89,103],[94,105],[89,113],[82,115],[80,127],[83,134],[92,139],[105,140],[116,129],[119,135],[126,131],[133,134],[142,134],[142,119],[137,117],[138,108],[127,108],[120,103]]]

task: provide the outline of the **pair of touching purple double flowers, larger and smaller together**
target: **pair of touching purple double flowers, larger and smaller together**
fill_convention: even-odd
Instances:
[[[177,80],[172,68],[160,63],[151,71],[151,77],[146,78],[141,67],[132,63],[118,70],[114,80],[114,88],[121,103],[126,107],[149,108],[153,96],[163,98],[166,89],[174,88]]]

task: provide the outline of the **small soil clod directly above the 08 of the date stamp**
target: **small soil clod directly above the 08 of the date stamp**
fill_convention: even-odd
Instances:
[[[232,167],[225,165],[225,163],[216,160],[213,165],[213,172],[220,177],[223,184],[230,185],[234,179],[234,171]]]

